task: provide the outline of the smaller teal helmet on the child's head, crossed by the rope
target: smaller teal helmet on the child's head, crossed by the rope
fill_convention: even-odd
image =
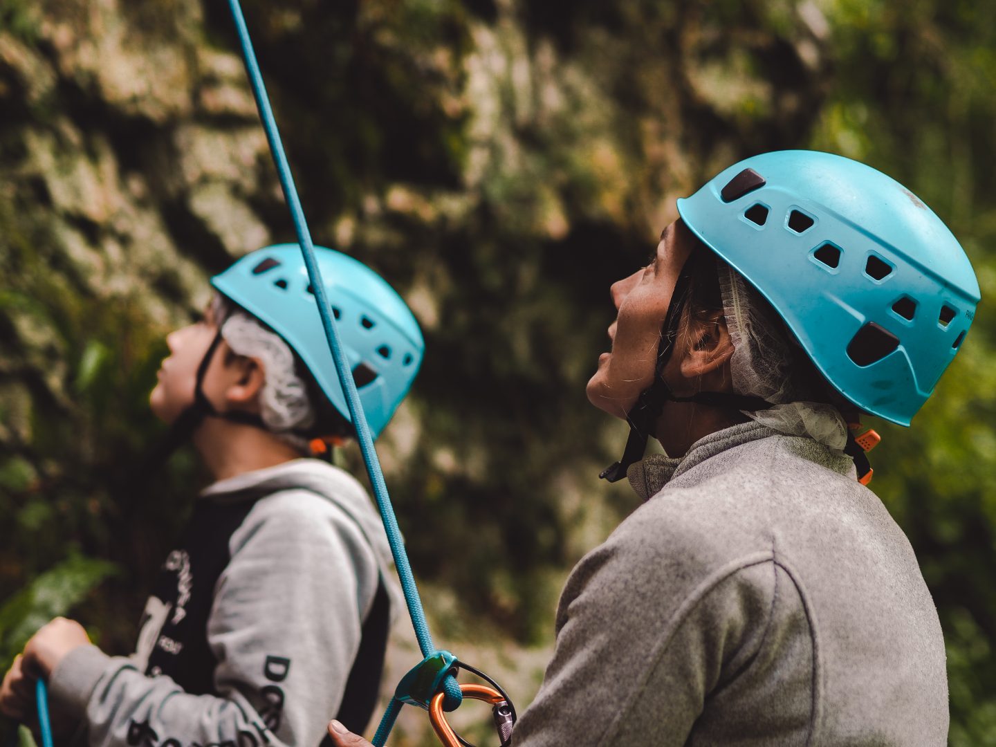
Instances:
[[[421,330],[401,297],[367,265],[322,246],[315,247],[315,257],[376,438],[418,373],[425,350]],[[340,414],[352,420],[297,244],[247,254],[211,284],[280,335]]]

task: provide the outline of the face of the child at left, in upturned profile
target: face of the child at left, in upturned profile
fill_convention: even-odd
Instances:
[[[167,423],[175,420],[184,408],[193,403],[197,369],[204,359],[207,349],[218,332],[210,307],[204,316],[194,324],[182,327],[166,336],[169,355],[162,361],[156,374],[158,382],[148,396],[148,403],[156,417]],[[219,348],[224,345],[221,343]],[[212,370],[224,360],[224,351],[217,350],[211,366],[204,374],[202,388],[210,397],[212,381],[216,377]]]

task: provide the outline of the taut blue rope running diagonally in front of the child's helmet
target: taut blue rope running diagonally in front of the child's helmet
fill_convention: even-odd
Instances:
[[[291,169],[287,162],[284,145],[280,139],[280,131],[273,118],[270,100],[267,97],[263,77],[260,74],[259,64],[256,61],[256,53],[253,51],[249,30],[246,27],[245,17],[242,15],[241,4],[239,0],[229,0],[229,6],[232,11],[232,18],[235,21],[239,44],[242,47],[242,58],[245,62],[246,73],[249,76],[249,84],[252,87],[253,96],[256,99],[259,117],[263,123],[263,128],[266,130],[266,138],[270,143],[270,151],[277,166],[277,175],[280,178],[280,185],[284,190],[284,198],[287,200],[287,204],[291,210],[291,218],[294,221],[294,229],[298,235],[298,243],[301,245],[301,253],[304,257],[305,266],[308,268],[308,278],[311,281],[312,288],[315,289],[318,311],[322,317],[322,326],[325,329],[325,336],[329,342],[333,360],[336,362],[336,373],[339,375],[340,384],[346,393],[346,402],[350,408],[353,426],[357,431],[357,440],[360,443],[364,463],[367,465],[367,474],[370,476],[371,485],[373,485],[373,497],[380,511],[383,528],[387,533],[387,541],[390,543],[390,552],[394,558],[394,567],[401,582],[401,590],[404,593],[404,601],[408,607],[408,615],[411,618],[412,626],[415,628],[418,647],[422,652],[422,656],[425,657],[424,660],[428,660],[437,651],[435,646],[432,645],[432,636],[429,634],[428,623],[425,620],[425,612],[422,609],[421,599],[418,596],[415,579],[411,574],[408,556],[404,551],[401,531],[398,529],[397,519],[394,516],[394,510],[387,495],[387,486],[383,480],[383,472],[380,469],[380,461],[377,458],[376,450],[373,448],[373,436],[367,424],[367,416],[360,402],[360,394],[357,391],[356,382],[353,380],[353,373],[350,371],[346,356],[343,354],[339,333],[336,330],[336,323],[329,311],[332,307],[326,296],[325,283],[322,282],[322,274],[315,260],[315,249],[312,244],[311,232],[308,230],[308,222],[305,220],[304,210],[301,208],[301,200],[298,198],[298,191],[294,185],[294,177],[291,175]],[[446,693],[446,710],[452,710],[457,707],[462,696],[460,694],[460,686],[452,674],[447,674],[444,677],[442,689]],[[402,701],[395,696],[387,706],[387,710],[380,721],[380,726],[377,728],[376,735],[373,737],[375,747],[381,747],[386,741],[394,719],[401,710],[401,704]]]

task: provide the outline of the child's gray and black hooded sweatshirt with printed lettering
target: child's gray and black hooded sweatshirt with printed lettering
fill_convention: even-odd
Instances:
[[[166,560],[137,651],[74,650],[53,704],[93,747],[316,747],[374,608],[381,639],[364,644],[379,678],[390,563],[367,493],[341,469],[299,459],[217,482]]]

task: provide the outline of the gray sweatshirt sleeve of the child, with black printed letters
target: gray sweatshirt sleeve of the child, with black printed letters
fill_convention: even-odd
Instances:
[[[207,639],[218,696],[87,646],[52,677],[60,707],[83,715],[92,747],[317,745],[336,715],[378,570],[341,509],[306,491],[259,501],[230,541]]]

